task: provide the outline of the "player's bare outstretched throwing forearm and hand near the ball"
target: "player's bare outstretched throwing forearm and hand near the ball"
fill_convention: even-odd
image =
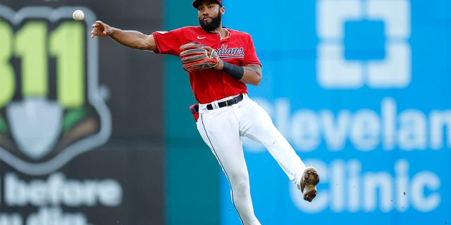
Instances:
[[[146,35],[135,30],[121,30],[111,27],[106,23],[97,20],[92,25],[91,37],[111,37],[123,46],[128,46],[132,49],[156,51],[155,39],[152,34]]]

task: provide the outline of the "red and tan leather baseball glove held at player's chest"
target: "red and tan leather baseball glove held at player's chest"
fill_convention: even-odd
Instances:
[[[202,47],[205,46],[198,42],[190,42],[180,46],[180,60],[183,63],[183,70],[192,72],[214,68],[218,65],[218,53],[214,49],[209,53]]]

